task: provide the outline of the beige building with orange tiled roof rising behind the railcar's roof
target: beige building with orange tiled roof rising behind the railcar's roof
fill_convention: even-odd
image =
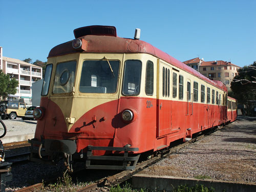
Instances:
[[[228,91],[230,91],[231,81],[234,76],[238,75],[238,69],[241,68],[231,62],[223,60],[204,61],[203,58],[200,59],[199,57],[184,61],[184,63],[210,79],[222,81]]]

